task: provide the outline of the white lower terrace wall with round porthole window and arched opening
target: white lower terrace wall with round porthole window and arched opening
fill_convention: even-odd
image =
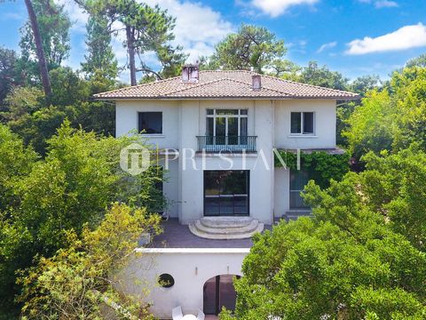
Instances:
[[[203,285],[219,275],[241,276],[241,264],[249,249],[140,249],[122,272],[122,291],[153,303],[150,309],[161,319],[171,318],[171,309],[181,306],[184,314],[203,309]],[[157,284],[158,276],[170,274],[171,288]],[[144,288],[150,292],[146,296]]]

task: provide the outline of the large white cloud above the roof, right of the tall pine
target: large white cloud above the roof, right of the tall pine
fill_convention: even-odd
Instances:
[[[235,30],[233,24],[224,20],[220,12],[213,11],[209,6],[181,2],[179,0],[146,0],[146,4],[159,4],[176,17],[176,36],[173,44],[180,44],[190,54],[188,60],[193,61],[200,55],[210,55],[214,46],[227,34]]]

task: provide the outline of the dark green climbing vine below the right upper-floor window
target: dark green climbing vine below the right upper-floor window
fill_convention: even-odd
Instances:
[[[281,159],[290,170],[297,169],[297,155],[294,152],[279,150]],[[343,175],[349,171],[349,154],[329,155],[325,151],[312,151],[300,153],[300,170],[309,173],[309,177],[315,180],[319,186],[325,188],[330,180],[342,180]],[[275,166],[279,167],[280,158],[275,155]]]

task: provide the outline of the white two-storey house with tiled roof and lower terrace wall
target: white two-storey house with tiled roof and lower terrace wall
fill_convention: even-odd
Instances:
[[[233,308],[233,276],[250,236],[274,220],[309,214],[300,191],[305,172],[274,165],[274,149],[335,145],[336,101],[351,92],[299,84],[250,71],[199,71],[103,92],[116,104],[116,134],[135,129],[158,149],[170,205],[165,232],[126,270],[154,286],[154,316],[171,309],[215,315]],[[154,285],[161,279],[160,285]],[[141,294],[127,282],[126,292]]]

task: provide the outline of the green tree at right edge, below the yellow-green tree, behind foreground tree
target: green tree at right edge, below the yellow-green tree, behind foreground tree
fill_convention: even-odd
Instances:
[[[367,204],[390,219],[390,226],[426,252],[426,153],[418,146],[397,154],[363,158],[361,173]]]

